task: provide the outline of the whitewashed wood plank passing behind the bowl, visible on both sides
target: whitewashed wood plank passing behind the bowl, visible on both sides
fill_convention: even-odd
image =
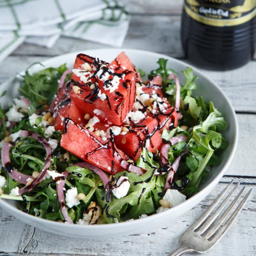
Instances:
[[[73,49],[78,50],[78,49]],[[72,50],[72,51],[73,51]],[[0,62],[0,83],[26,69],[30,64],[44,61],[46,56],[9,56]],[[143,67],[141,67],[143,69]],[[256,113],[256,61],[226,72],[202,70],[223,89],[236,111]],[[214,99],[213,99],[214,100]]]

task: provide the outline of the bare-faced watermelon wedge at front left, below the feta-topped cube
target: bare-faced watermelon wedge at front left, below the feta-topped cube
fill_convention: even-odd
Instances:
[[[61,147],[108,173],[116,174],[124,170],[115,161],[108,141],[103,141],[70,119],[65,119],[65,132],[61,137]],[[118,153],[123,159],[127,159],[122,152]]]

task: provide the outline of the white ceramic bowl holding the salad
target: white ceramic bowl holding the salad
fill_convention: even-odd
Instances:
[[[125,51],[126,54],[130,57],[131,61],[136,65],[136,67],[140,67],[146,73],[149,73],[152,69],[158,67],[158,64],[156,62],[159,58],[168,59],[168,67],[175,69],[178,74],[180,74],[180,72],[182,70],[185,70],[188,66],[183,61],[178,61],[166,55],[140,50],[96,49],[85,50],[79,53],[98,56],[101,60],[104,61],[112,61],[121,51]],[[72,67],[75,57],[79,53],[61,55],[47,61],[43,61],[42,64],[45,67],[58,67],[63,63],[67,63],[68,67]],[[167,211],[159,214],[148,216],[146,218],[115,224],[98,224],[85,226],[52,222],[35,216],[31,216],[20,211],[18,209],[18,204],[16,204],[16,202],[14,201],[0,200],[0,207],[2,207],[2,209],[5,209],[16,218],[20,219],[22,222],[26,222],[27,224],[30,224],[36,228],[64,236],[90,238],[121,236],[149,230],[154,227],[162,226],[166,222],[171,222],[176,217],[181,216],[183,213],[194,207],[198,202],[200,202],[206,195],[211,192],[211,190],[222,178],[225,170],[228,168],[236,150],[236,144],[238,139],[238,124],[235,111],[227,96],[222,92],[222,90],[216,85],[215,82],[204,76],[195,67],[192,68],[194,70],[194,73],[199,76],[199,79],[196,82],[197,89],[193,94],[201,95],[205,101],[213,101],[216,108],[218,108],[222,112],[225,120],[228,123],[228,128],[225,130],[223,135],[229,141],[229,147],[221,155],[220,165],[214,167],[210,175],[202,181],[199,187],[200,191],[196,195],[189,198],[186,202],[175,206],[174,208],[168,209]],[[42,67],[40,65],[36,65],[30,69],[30,72],[33,73],[40,69],[42,69]],[[179,76],[182,80],[183,75],[181,74]],[[0,86],[0,94],[2,93],[2,91],[7,90],[7,96],[0,99],[3,105],[10,104],[10,102],[12,102],[12,98],[18,95],[17,89],[19,87],[19,82],[17,80],[17,77],[10,79]]]

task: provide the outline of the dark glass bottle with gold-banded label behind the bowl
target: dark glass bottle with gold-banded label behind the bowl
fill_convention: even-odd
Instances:
[[[185,0],[181,38],[186,58],[199,67],[243,66],[256,48],[256,0]]]

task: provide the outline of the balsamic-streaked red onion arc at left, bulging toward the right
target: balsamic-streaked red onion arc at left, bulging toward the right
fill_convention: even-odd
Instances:
[[[34,189],[36,186],[38,186],[40,184],[40,182],[42,182],[43,179],[46,177],[47,170],[49,169],[49,167],[51,165],[52,155],[51,155],[50,145],[48,144],[47,140],[45,138],[43,138],[41,135],[34,133],[34,132],[21,130],[20,136],[32,137],[33,139],[38,141],[40,144],[42,144],[44,146],[44,148],[46,149],[46,159],[45,159],[44,168],[40,172],[40,175],[38,175],[37,178],[35,178],[33,182],[31,182],[29,185],[26,185],[25,187],[19,189],[19,194],[23,195],[27,192],[30,192],[32,189]]]

